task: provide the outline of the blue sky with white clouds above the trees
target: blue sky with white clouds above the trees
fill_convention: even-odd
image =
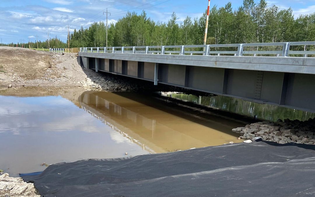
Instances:
[[[256,0],[258,2],[259,0]],[[224,6],[228,0],[211,0],[211,5]],[[230,0],[237,9],[243,0]],[[315,12],[315,0],[269,0],[269,5],[280,8],[291,7],[295,17],[299,14]],[[124,4],[124,5],[121,5]],[[126,11],[141,12],[151,19],[166,22],[172,12],[176,12],[180,23],[187,15],[200,17],[207,8],[207,0],[0,0],[0,38],[3,43],[19,42],[28,37],[35,41],[57,36],[63,41],[67,38],[66,26],[74,28],[89,27],[94,21],[105,20],[103,10],[113,13],[109,22],[115,23]],[[120,5],[120,6],[118,6]],[[115,6],[115,7],[114,7]],[[105,10],[104,10],[105,11]]]

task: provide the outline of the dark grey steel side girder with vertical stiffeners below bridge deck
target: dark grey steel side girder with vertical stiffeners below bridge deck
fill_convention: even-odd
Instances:
[[[315,75],[81,57],[86,68],[315,112]]]

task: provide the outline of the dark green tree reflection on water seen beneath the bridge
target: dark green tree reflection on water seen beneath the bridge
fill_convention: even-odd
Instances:
[[[305,112],[301,110],[279,107],[269,104],[259,104],[250,101],[243,101],[242,99],[231,98],[227,96],[202,96],[200,99],[199,96],[172,93],[171,97],[191,101],[194,103],[200,103],[205,106],[215,107],[248,116],[257,115],[258,118],[273,121],[286,118],[292,120],[307,120],[309,118],[315,117],[315,113],[311,112]]]

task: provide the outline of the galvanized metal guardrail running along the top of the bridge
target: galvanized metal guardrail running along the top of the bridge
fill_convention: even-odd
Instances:
[[[208,44],[179,46],[134,46],[134,47],[81,47],[80,52],[97,53],[133,53],[133,54],[163,54],[163,55],[231,55],[231,56],[281,56],[315,55],[314,50],[307,46],[315,46],[315,42],[284,42],[284,43],[243,43],[243,44]],[[290,50],[290,46],[302,46],[303,50]],[[273,50],[262,50],[270,47]],[[222,50],[222,48],[224,50]],[[256,50],[248,50],[255,48]],[[261,50],[259,50],[261,48]],[[226,49],[226,50],[225,50]],[[229,50],[230,49],[230,50]],[[234,50],[231,50],[234,49]]]

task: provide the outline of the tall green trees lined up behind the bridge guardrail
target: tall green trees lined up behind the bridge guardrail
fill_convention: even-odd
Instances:
[[[155,22],[143,11],[128,12],[108,27],[108,46],[157,46],[203,44],[206,12],[200,18],[187,16],[178,24],[175,13],[167,23]],[[235,11],[232,3],[210,10],[207,44],[268,43],[315,40],[315,12],[294,18],[293,10],[268,6],[265,0],[243,0]],[[106,25],[95,22],[74,30],[71,47],[106,46]]]

